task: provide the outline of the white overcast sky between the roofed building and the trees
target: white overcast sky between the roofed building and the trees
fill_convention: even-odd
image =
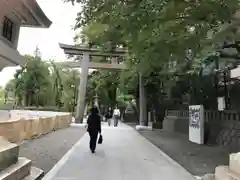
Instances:
[[[73,44],[75,32],[73,26],[80,11],[79,5],[63,3],[63,0],[37,0],[38,4],[52,21],[48,29],[21,28],[18,42],[18,51],[24,54],[33,54],[38,46],[42,59],[64,60],[66,56],[59,48],[59,43]],[[0,72],[0,86],[13,78],[19,67],[6,67]]]

